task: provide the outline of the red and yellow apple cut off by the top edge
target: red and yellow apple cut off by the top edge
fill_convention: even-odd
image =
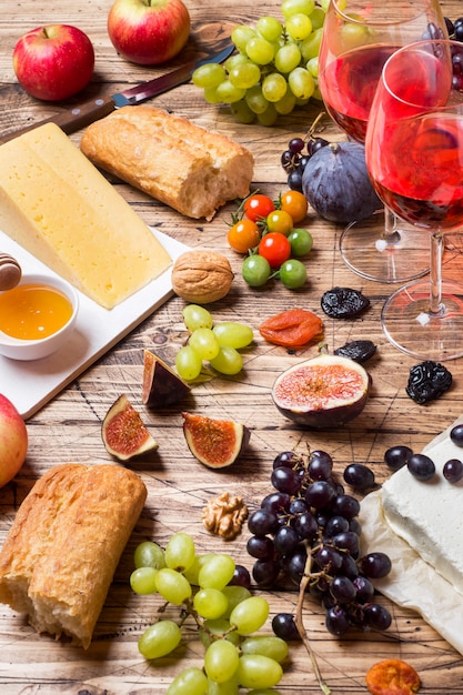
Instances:
[[[190,36],[190,14],[182,0],[115,0],[108,33],[118,53],[140,66],[174,58]]]

